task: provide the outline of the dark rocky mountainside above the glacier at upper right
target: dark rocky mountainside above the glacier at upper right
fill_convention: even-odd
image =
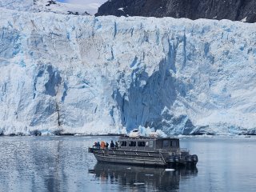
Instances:
[[[230,19],[256,22],[254,0],[111,0],[98,15]]]

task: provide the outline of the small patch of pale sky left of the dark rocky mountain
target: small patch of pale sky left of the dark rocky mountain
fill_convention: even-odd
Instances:
[[[57,0],[57,2],[66,2],[70,4],[78,4],[89,7],[90,14],[96,14],[98,7],[101,6],[107,0]]]

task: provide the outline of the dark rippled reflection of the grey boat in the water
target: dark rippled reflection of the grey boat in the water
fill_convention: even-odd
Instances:
[[[128,190],[139,187],[145,190],[175,191],[179,189],[179,182],[182,179],[185,181],[197,176],[198,169],[181,167],[174,171],[166,171],[163,168],[98,162],[94,170],[89,170],[89,172],[108,184],[117,184],[116,190],[124,189],[124,187]]]

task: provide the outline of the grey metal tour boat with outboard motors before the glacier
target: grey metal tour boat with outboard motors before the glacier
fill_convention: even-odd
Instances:
[[[98,162],[139,166],[196,166],[198,156],[180,148],[178,138],[121,136],[118,147],[93,146],[88,149]]]

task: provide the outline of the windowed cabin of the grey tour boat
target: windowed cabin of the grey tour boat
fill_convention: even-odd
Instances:
[[[119,138],[122,150],[174,150],[179,148],[178,138]]]

